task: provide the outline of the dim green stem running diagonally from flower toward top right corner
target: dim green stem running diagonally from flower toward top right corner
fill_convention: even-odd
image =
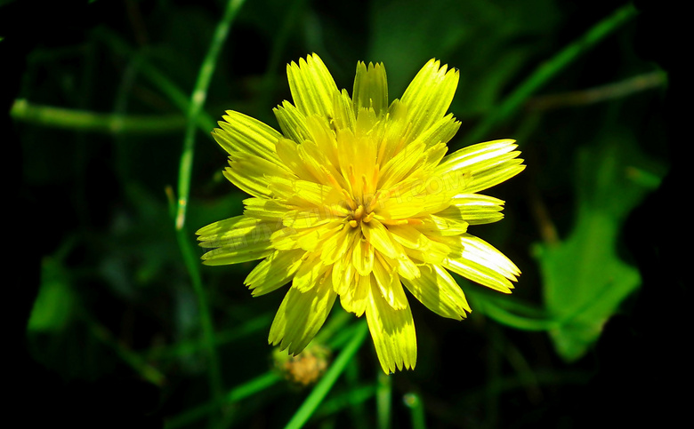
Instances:
[[[484,120],[467,134],[464,138],[463,146],[465,147],[484,139],[497,123],[505,121],[518,111],[530,95],[547,83],[553,76],[557,75],[562,69],[569,66],[571,62],[576,60],[583,53],[593,48],[595,44],[598,44],[598,42],[606,36],[609,36],[614,30],[628,20],[631,20],[636,16],[636,13],[637,11],[636,8],[633,7],[633,4],[626,4],[617,9],[617,11],[606,19],[595,24],[585,35],[569,44],[552,59],[541,64],[525,82],[521,83],[515,91],[512,91],[496,109],[492,110]]]

